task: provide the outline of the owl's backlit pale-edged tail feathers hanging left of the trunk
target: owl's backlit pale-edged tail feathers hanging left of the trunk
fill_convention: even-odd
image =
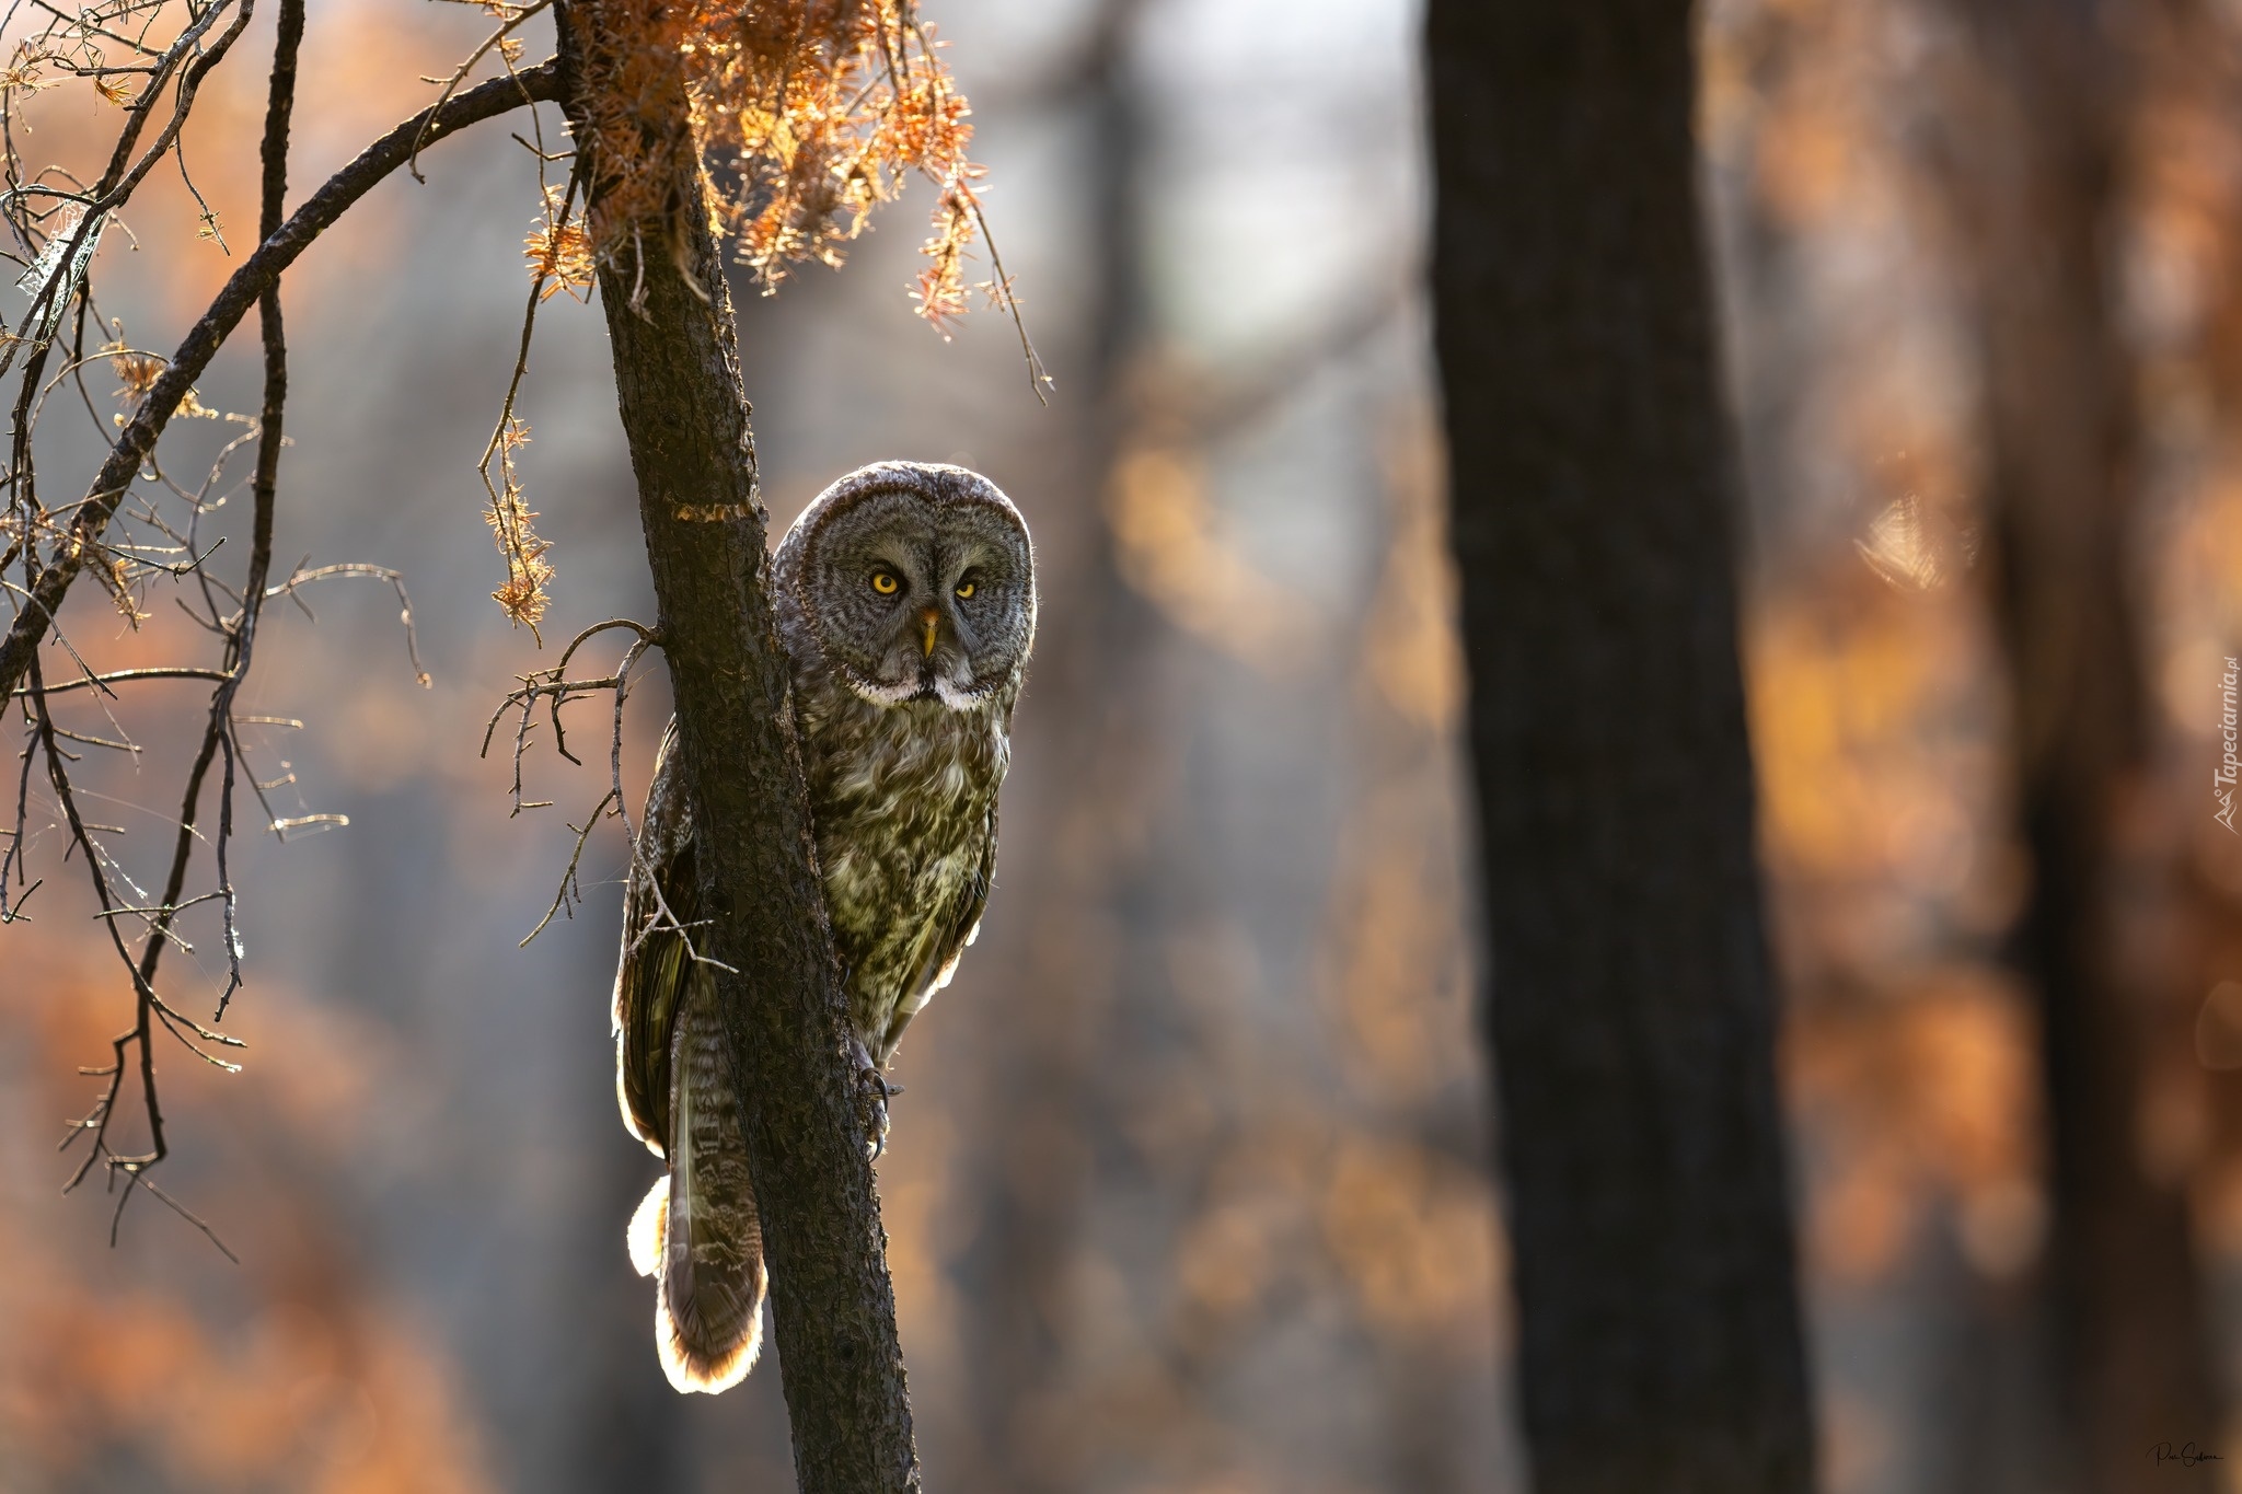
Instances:
[[[679,1393],[729,1391],[762,1348],[762,1221],[738,1133],[726,1140],[720,1156],[679,1147],[630,1218],[630,1263],[655,1277],[655,1348]]]

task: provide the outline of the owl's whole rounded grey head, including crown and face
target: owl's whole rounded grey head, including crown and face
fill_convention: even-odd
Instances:
[[[1036,641],[1020,511],[962,466],[874,461],[825,488],[778,547],[780,607],[865,701],[975,710]]]

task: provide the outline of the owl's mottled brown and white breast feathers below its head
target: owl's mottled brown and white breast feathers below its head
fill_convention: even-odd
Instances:
[[[816,670],[796,676],[825,905],[850,1017],[879,1064],[980,927],[1016,694],[975,710],[874,706]]]

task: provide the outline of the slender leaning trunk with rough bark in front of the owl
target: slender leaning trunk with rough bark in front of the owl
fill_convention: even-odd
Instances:
[[[614,85],[578,67],[603,9],[560,9],[563,99],[578,141],[592,90]],[[632,108],[682,130],[682,94],[634,96]],[[769,515],[731,296],[700,179],[675,190],[668,222],[637,224],[634,262],[626,253],[601,267],[599,298],[704,849],[702,905],[715,912],[695,941],[729,965],[717,995],[771,1266],[796,1483],[803,1494],[917,1492],[888,1241],[771,611]]]

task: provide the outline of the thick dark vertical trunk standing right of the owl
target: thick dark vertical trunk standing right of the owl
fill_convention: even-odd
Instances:
[[[1682,0],[1430,0],[1435,340],[1540,1494],[1803,1492]]]

